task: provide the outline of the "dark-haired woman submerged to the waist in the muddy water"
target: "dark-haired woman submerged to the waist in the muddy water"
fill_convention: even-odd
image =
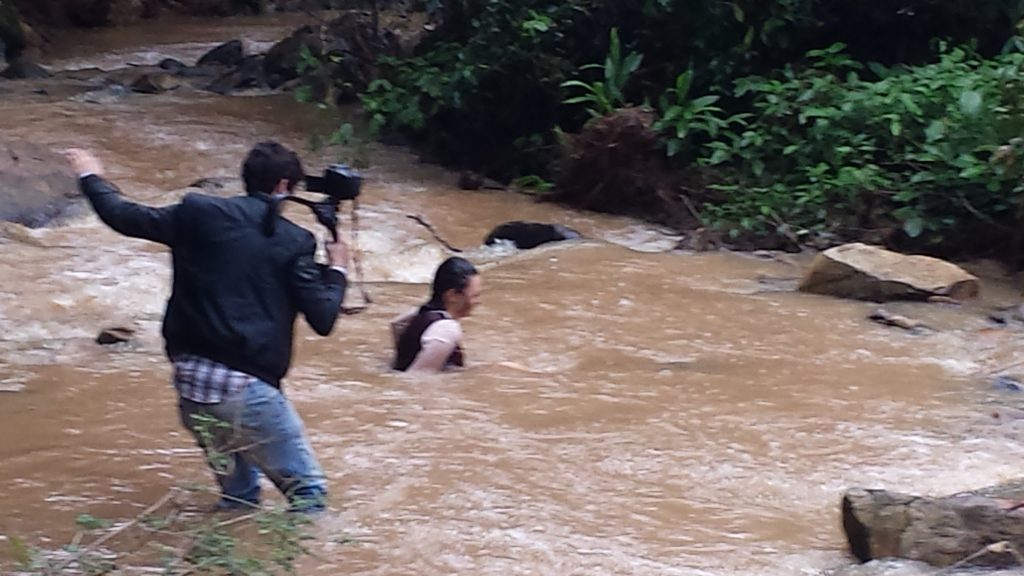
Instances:
[[[402,372],[439,372],[461,368],[462,326],[479,303],[482,281],[469,260],[453,256],[437,268],[430,300],[391,322],[395,359]]]

